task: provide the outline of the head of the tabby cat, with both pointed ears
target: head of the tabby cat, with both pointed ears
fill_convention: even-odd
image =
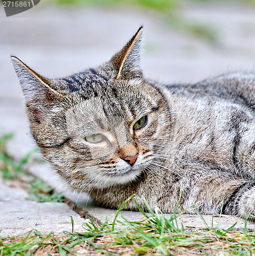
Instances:
[[[170,122],[164,96],[143,78],[141,40],[142,27],[110,61],[61,79],[12,57],[32,135],[73,188],[123,184],[157,169],[152,161]]]

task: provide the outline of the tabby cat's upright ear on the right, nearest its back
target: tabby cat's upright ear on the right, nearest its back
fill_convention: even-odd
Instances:
[[[138,29],[126,46],[111,58],[110,63],[115,71],[115,79],[142,79],[143,74],[140,68],[142,32],[143,26]]]

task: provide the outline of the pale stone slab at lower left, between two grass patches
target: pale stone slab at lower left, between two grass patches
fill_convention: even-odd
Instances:
[[[84,231],[82,224],[88,220],[65,203],[37,203],[27,197],[25,190],[9,187],[0,180],[0,237],[26,236],[33,229],[41,234],[72,232],[70,216],[74,231]]]

